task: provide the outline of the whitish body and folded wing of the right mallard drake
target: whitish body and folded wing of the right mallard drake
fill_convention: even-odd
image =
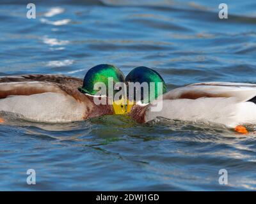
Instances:
[[[201,94],[202,97],[187,99],[182,98],[182,94],[191,96]],[[193,122],[214,122],[230,128],[241,124],[256,124],[256,105],[248,101],[255,96],[256,84],[230,82],[191,84],[164,94],[163,108],[159,112],[152,112],[153,105],[148,106],[145,121],[165,117]],[[155,103],[161,105],[159,104],[161,99]]]

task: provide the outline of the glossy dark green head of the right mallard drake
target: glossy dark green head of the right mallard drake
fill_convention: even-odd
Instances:
[[[143,84],[143,82],[146,82],[148,84],[148,92],[146,94],[147,95],[146,98],[143,94],[143,92],[145,92],[144,89],[140,88],[141,102],[143,103],[149,103],[154,99],[156,99],[161,94],[164,94],[166,92],[166,84],[164,83],[164,80],[159,75],[159,73],[145,66],[140,66],[138,68],[132,69],[132,71],[125,78],[125,83],[128,84],[128,82],[133,82],[133,83],[139,82],[140,84]],[[154,89],[154,90],[150,91],[150,89]],[[139,90],[137,90],[136,88],[134,89],[134,96],[132,96],[134,99],[136,99],[136,92],[138,91]],[[127,92],[128,92],[127,94],[129,95],[129,89],[127,89]],[[150,94],[150,93],[153,93],[153,94]],[[130,95],[128,97],[130,98]]]

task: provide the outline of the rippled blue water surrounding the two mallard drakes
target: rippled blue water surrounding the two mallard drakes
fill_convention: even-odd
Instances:
[[[139,3],[138,3],[139,2]],[[205,81],[256,83],[256,2],[27,1],[0,3],[0,76],[83,78],[101,63],[125,75],[154,68],[168,89]],[[256,189],[256,136],[157,119],[136,124],[100,117],[42,124],[9,117],[0,125],[0,190]],[[36,171],[28,185],[26,171]],[[228,171],[220,185],[218,171]]]

